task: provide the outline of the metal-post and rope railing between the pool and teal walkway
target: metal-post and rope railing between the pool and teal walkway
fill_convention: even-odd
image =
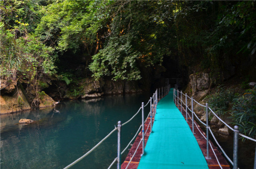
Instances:
[[[161,90],[162,89],[162,90]],[[121,169],[121,155],[128,149],[128,147],[131,145],[131,142],[133,142],[133,140],[136,138],[136,136],[138,135],[139,131],[142,130],[142,139],[140,140],[138,147],[136,148],[136,151],[134,152],[132,158],[130,159],[127,167],[129,166],[129,164],[131,163],[131,160],[133,159],[133,157],[135,156],[135,154],[137,153],[137,150],[139,149],[140,146],[142,146],[142,155],[144,154],[144,148],[145,148],[145,134],[149,129],[150,126],[150,132],[152,132],[152,118],[154,118],[154,116],[156,115],[156,107],[157,107],[157,103],[160,99],[162,99],[164,96],[166,96],[168,94],[168,92],[170,91],[170,85],[164,86],[162,88],[156,89],[156,92],[154,92],[153,96],[150,97],[149,101],[147,102],[146,105],[144,105],[144,102],[142,102],[141,107],[139,108],[138,112],[135,113],[128,121],[126,121],[125,123],[122,124],[121,121],[118,121],[118,125],[117,127],[115,127],[106,137],[104,137],[104,139],[102,139],[99,143],[97,143],[97,145],[95,145],[91,150],[89,150],[87,153],[85,153],[83,156],[81,156],[80,158],[76,159],[73,163],[69,164],[68,166],[66,166],[64,169],[68,169],[71,166],[75,165],[76,163],[78,163],[79,161],[81,161],[83,158],[85,158],[87,155],[89,155],[92,151],[94,151],[97,147],[99,147],[99,145],[104,142],[104,140],[106,140],[111,134],[113,134],[116,130],[117,130],[117,158],[115,158],[113,160],[113,162],[110,164],[110,166],[108,167],[108,169],[110,169],[113,164],[115,164],[115,162],[117,162],[117,169]],[[146,132],[144,131],[144,124],[147,120],[144,120],[144,107],[146,107],[148,104],[150,103],[150,112],[147,115],[147,118],[150,117],[150,122],[147,126]],[[138,131],[136,132],[136,134],[134,135],[134,137],[130,140],[130,142],[128,143],[128,145],[125,147],[125,149],[121,152],[121,131],[122,131],[122,127],[129,123],[131,120],[133,120],[133,118],[138,115],[138,113],[141,110],[141,115],[142,115],[142,124],[140,125]],[[142,145],[141,145],[142,144]]]

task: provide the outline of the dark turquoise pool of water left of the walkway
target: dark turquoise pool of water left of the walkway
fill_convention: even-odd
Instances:
[[[62,169],[82,156],[117,125],[124,123],[150,95],[105,96],[61,102],[56,110],[1,115],[2,169]],[[145,112],[148,112],[147,110]],[[21,118],[37,123],[21,126]],[[122,150],[141,124],[141,115],[122,128]],[[122,156],[124,160],[128,151]],[[117,156],[117,132],[72,169],[105,169]],[[112,168],[116,168],[116,164]]]

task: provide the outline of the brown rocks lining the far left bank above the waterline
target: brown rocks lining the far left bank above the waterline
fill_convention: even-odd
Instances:
[[[39,93],[39,98],[36,99],[39,108],[51,107],[53,106],[55,100],[52,97],[64,98],[64,99],[92,99],[95,97],[100,97],[103,94],[124,94],[124,93],[135,93],[141,92],[142,89],[139,88],[139,83],[137,81],[123,81],[123,80],[104,80],[99,79],[95,80],[94,78],[84,78],[78,83],[78,90],[75,91],[76,95],[72,96],[68,92],[62,91],[63,97],[57,96],[61,92],[58,90],[59,87],[55,87],[54,89],[47,90],[46,88],[38,88],[39,91],[32,90],[32,84],[29,85],[28,91],[30,92],[28,96],[23,89],[22,85],[17,85],[17,81],[9,81],[4,82],[1,88],[1,99],[0,99],[0,113],[11,113],[11,112],[19,112],[22,110],[31,109],[31,104],[33,97],[36,95],[36,92]],[[51,81],[45,82],[49,86],[51,86]],[[53,86],[53,85],[52,85]],[[55,85],[54,85],[55,86]],[[46,89],[46,90],[45,90]],[[49,91],[45,93],[45,91]],[[65,87],[65,90],[68,89]],[[77,94],[78,93],[78,94]],[[48,95],[49,94],[49,95]],[[50,97],[52,96],[52,97]],[[35,99],[34,99],[35,100]]]

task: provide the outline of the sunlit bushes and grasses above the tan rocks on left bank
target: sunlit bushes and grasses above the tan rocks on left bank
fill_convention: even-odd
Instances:
[[[33,35],[27,40],[15,39],[13,33],[0,30],[1,69],[3,78],[24,77],[32,81],[36,75],[55,73],[53,49],[44,46]]]

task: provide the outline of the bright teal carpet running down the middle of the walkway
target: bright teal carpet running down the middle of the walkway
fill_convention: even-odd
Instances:
[[[152,133],[138,169],[208,169],[186,120],[173,102],[173,90],[157,105]]]

